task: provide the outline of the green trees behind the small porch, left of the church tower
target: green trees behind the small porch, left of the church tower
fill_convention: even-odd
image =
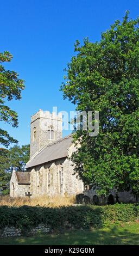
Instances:
[[[30,145],[15,145],[8,149],[0,149],[0,194],[9,194],[9,185],[13,167],[23,172],[29,160]]]

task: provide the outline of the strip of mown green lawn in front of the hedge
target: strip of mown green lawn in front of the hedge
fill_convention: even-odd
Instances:
[[[139,223],[0,239],[0,245],[139,245]]]

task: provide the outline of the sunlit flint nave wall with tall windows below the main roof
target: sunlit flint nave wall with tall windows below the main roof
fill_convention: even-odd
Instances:
[[[60,183],[61,166],[63,176]],[[84,190],[83,182],[77,178],[77,175],[73,175],[73,167],[68,159],[60,159],[52,163],[46,163],[41,167],[35,167],[31,169],[30,174],[31,197],[74,196]],[[40,175],[40,178],[38,175]],[[39,183],[38,179],[40,179]]]

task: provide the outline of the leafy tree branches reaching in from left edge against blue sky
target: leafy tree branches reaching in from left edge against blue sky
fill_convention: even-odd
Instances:
[[[0,53],[0,63],[10,62],[12,55],[5,51]],[[24,81],[18,78],[15,71],[5,70],[0,65],[0,121],[11,124],[13,127],[18,126],[18,115],[11,110],[5,103],[12,99],[20,100],[21,91],[24,89]],[[8,147],[10,143],[17,143],[7,131],[0,129],[0,144]]]

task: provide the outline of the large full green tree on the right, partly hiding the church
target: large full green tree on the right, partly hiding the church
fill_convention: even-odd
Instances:
[[[76,131],[75,173],[98,194],[139,196],[139,19],[116,20],[99,42],[75,43],[61,90],[79,112],[99,111],[99,134]],[[93,120],[94,124],[94,120]]]

